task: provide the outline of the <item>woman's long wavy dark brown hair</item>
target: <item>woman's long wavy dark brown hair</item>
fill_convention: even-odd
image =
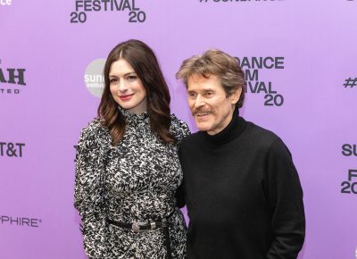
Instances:
[[[126,127],[126,121],[112,97],[109,79],[112,63],[121,58],[133,67],[146,90],[151,129],[164,142],[175,143],[176,139],[170,134],[170,92],[160,65],[149,46],[137,39],[130,39],[115,46],[104,65],[104,92],[97,113],[112,135],[112,144],[118,145]]]

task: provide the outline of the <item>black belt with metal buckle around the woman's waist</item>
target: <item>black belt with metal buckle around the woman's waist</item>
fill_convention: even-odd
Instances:
[[[121,229],[127,229],[127,230],[133,230],[136,233],[145,231],[145,230],[156,230],[156,229],[162,229],[163,230],[163,235],[165,237],[164,242],[166,246],[166,251],[167,251],[167,259],[172,259],[171,255],[171,244],[170,244],[170,231],[169,231],[169,222],[168,220],[172,216],[172,213],[168,215],[165,218],[162,218],[160,221],[145,221],[145,222],[121,222],[121,221],[112,221],[111,219],[107,218],[106,221],[109,224],[112,224],[114,226],[120,227]]]

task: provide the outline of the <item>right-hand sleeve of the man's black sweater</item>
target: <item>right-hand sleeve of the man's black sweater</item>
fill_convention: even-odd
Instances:
[[[295,259],[303,247],[303,189],[291,154],[281,139],[267,155],[268,199],[272,211],[272,243],[267,259]]]

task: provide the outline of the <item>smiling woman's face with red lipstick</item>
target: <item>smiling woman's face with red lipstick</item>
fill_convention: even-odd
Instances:
[[[115,102],[130,113],[146,111],[146,90],[132,66],[123,58],[109,71],[110,89]]]

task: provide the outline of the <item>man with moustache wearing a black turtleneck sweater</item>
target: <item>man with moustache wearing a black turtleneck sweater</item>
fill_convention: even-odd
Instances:
[[[239,117],[245,75],[209,50],[184,61],[198,132],[182,141],[188,259],[293,259],[303,246],[303,190],[290,152],[269,130]]]

